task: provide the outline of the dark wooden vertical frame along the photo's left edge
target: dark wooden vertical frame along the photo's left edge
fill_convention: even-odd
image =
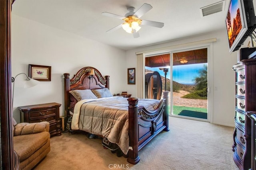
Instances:
[[[0,121],[1,169],[13,170],[14,150],[11,102],[11,8],[14,0],[0,0]]]

